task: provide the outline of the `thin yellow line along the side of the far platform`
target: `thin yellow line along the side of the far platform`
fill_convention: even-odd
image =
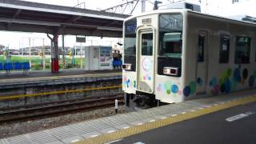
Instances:
[[[38,93],[38,94],[18,94],[18,95],[11,95],[11,96],[0,96],[0,100],[7,100],[13,98],[25,98],[25,97],[36,97],[41,95],[50,95],[50,94],[65,94],[65,93],[75,93],[75,92],[82,92],[82,91],[89,91],[89,90],[106,90],[106,89],[116,89],[121,88],[121,85],[117,86],[104,86],[104,87],[92,87],[87,89],[78,89],[78,90],[62,90],[62,91],[53,91],[48,93]]]

